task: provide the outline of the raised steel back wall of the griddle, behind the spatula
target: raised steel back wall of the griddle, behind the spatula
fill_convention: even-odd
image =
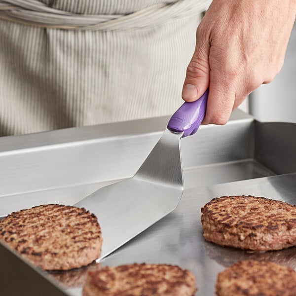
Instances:
[[[198,136],[181,141],[183,168],[253,158],[253,118],[239,111],[232,118],[225,126],[201,126]],[[130,178],[168,120],[150,118],[0,137],[0,196]],[[2,206],[0,202],[0,216],[9,214]]]

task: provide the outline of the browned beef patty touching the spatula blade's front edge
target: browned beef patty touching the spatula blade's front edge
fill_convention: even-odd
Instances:
[[[54,204],[8,215],[0,222],[0,239],[45,270],[87,265],[99,257],[102,247],[95,215]]]

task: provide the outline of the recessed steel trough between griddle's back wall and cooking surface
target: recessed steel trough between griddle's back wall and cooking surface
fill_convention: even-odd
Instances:
[[[182,152],[182,155],[183,154],[184,153]],[[111,166],[113,165],[111,164]],[[261,165],[256,160],[249,158],[238,161],[233,160],[216,164],[208,164],[187,168],[185,167],[183,169],[185,188],[195,188],[200,185],[208,186],[212,184],[253,179],[272,175],[275,174],[267,167]],[[64,176],[64,178],[66,177],[67,176]],[[81,197],[87,196],[98,188],[113,184],[115,182],[117,182],[117,180],[65,186],[53,189],[44,189],[0,196],[1,214],[3,216],[6,216],[13,211],[31,208],[39,204],[64,203],[68,205],[73,205],[74,203],[81,200]]]

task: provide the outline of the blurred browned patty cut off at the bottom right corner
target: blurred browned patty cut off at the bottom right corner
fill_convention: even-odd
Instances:
[[[218,296],[295,296],[296,272],[267,261],[239,261],[218,275]]]

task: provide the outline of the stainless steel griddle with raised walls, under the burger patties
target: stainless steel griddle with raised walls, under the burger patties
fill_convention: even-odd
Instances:
[[[0,138],[0,216],[44,203],[71,205],[101,186],[133,176],[168,119]],[[249,254],[207,243],[200,209],[228,194],[295,203],[295,135],[296,124],[260,123],[235,111],[226,125],[202,126],[195,136],[182,139],[185,191],[180,206],[101,264],[178,264],[195,274],[200,296],[214,295],[218,272],[239,259],[268,259],[294,267],[295,248]],[[87,270],[97,265],[47,273],[0,243],[0,294],[80,296]]]

